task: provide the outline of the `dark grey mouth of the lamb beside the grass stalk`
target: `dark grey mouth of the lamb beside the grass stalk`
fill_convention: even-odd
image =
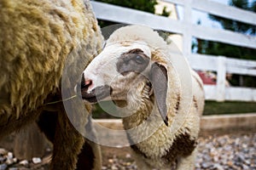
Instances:
[[[90,102],[97,103],[102,99],[107,98],[112,94],[112,88],[108,85],[100,86],[94,88],[90,93],[87,93],[85,90],[81,89],[82,99]]]

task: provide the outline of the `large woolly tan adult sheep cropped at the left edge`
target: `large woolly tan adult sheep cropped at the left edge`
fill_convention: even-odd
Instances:
[[[1,0],[0,15],[0,139],[38,122],[54,144],[51,169],[101,169],[99,146],[72,124],[90,130],[90,105],[86,113],[78,112],[84,119],[70,121],[62,102],[56,102],[61,80],[67,91],[75,83],[62,77],[64,68],[79,75],[102,48],[90,2]]]

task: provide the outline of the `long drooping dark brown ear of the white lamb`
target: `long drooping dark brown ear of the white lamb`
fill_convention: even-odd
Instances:
[[[151,66],[150,82],[152,83],[154,89],[154,99],[156,100],[156,105],[158,107],[158,110],[160,111],[160,116],[166,123],[166,126],[168,126],[168,117],[166,109],[166,94],[168,80],[167,70],[164,65],[154,63]]]

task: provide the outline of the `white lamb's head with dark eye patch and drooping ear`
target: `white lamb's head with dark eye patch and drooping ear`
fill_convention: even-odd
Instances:
[[[113,100],[130,105],[142,97],[144,88],[148,86],[148,98],[154,96],[160,116],[167,125],[167,65],[157,50],[159,46],[166,45],[166,42],[150,29],[149,33],[154,34],[155,38],[149,38],[149,43],[147,35],[143,35],[144,27],[135,28],[136,26],[125,26],[113,32],[102,53],[84,70],[79,85],[81,92],[78,93],[82,99],[92,104]],[[129,35],[122,34],[129,29],[133,30]]]

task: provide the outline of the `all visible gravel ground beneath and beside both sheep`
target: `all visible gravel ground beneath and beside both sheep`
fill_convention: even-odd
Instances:
[[[102,154],[103,170],[137,169],[129,148],[102,147]],[[49,156],[42,159],[20,161],[11,152],[0,149],[0,170],[46,170],[48,168]],[[195,169],[256,170],[256,133],[200,137]]]

